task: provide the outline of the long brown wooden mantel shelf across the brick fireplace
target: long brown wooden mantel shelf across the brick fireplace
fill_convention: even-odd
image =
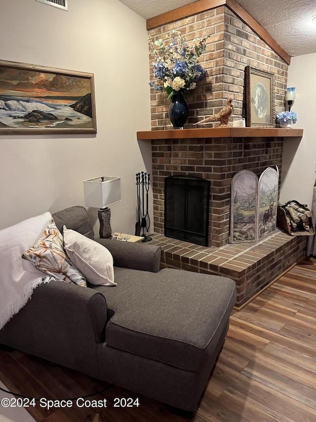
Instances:
[[[137,132],[138,140],[197,138],[302,138],[303,129],[201,128]]]

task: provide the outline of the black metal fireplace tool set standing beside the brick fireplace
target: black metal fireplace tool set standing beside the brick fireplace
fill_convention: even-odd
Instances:
[[[150,228],[150,217],[148,214],[149,185],[150,185],[149,173],[146,173],[146,172],[136,173],[138,221],[136,222],[136,225],[135,225],[135,236],[143,236],[144,238],[142,242],[149,242],[150,240],[152,240],[152,238],[148,235],[148,231]],[[142,190],[142,195],[141,195],[141,190]],[[146,213],[145,213],[145,191],[146,191]],[[142,205],[142,214],[141,214],[141,205]],[[141,234],[141,229],[143,229],[143,234]],[[145,229],[146,229],[147,234],[145,234]]]

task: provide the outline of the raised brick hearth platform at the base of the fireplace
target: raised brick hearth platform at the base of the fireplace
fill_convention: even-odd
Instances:
[[[163,234],[151,234],[161,247],[161,267],[230,277],[236,282],[240,307],[305,255],[308,236],[279,230],[260,242],[234,243],[220,248],[198,246]]]

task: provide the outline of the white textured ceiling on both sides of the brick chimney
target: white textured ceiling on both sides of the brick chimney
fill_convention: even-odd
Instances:
[[[192,0],[120,0],[149,19]],[[316,0],[237,0],[290,56],[316,52]]]

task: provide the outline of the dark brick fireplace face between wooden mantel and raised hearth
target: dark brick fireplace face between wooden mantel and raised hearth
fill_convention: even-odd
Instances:
[[[282,138],[267,137],[153,140],[155,232],[164,233],[165,177],[193,176],[210,182],[208,245],[229,243],[232,177],[246,169],[259,177],[274,165],[281,174],[282,146]]]

